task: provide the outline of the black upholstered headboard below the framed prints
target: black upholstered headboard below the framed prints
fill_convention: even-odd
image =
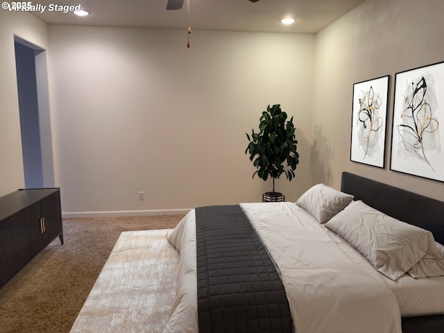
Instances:
[[[341,191],[400,221],[431,231],[444,244],[444,202],[343,172]]]

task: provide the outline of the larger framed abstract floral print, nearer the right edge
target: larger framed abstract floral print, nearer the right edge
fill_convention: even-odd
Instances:
[[[396,74],[390,169],[444,182],[444,62]]]

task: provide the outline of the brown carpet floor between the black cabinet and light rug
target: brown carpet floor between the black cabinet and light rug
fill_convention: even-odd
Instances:
[[[55,239],[0,289],[1,333],[67,333],[123,231],[174,228],[183,215],[64,219]]]

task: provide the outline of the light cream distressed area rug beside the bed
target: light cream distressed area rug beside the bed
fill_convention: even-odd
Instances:
[[[174,302],[179,257],[168,231],[120,234],[71,333],[162,332]]]

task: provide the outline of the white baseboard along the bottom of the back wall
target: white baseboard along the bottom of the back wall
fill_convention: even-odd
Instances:
[[[153,216],[153,215],[182,215],[191,208],[182,210],[118,210],[108,212],[62,212],[63,219],[74,217],[118,217],[118,216]]]

